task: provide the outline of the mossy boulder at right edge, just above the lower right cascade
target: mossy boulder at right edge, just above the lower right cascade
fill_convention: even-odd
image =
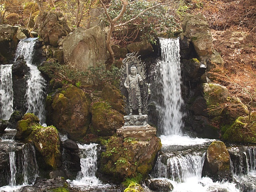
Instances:
[[[253,112],[250,118],[250,122],[248,122],[248,116],[239,116],[225,130],[222,140],[232,143],[256,144],[256,112]]]

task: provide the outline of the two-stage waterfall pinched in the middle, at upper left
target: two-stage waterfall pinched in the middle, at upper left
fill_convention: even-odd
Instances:
[[[39,117],[40,123],[45,122],[45,111],[44,111],[44,98],[46,95],[46,81],[41,76],[40,71],[35,65],[32,64],[34,45],[37,38],[27,38],[20,40],[15,54],[15,60],[19,56],[23,56],[27,66],[29,67],[29,78],[27,80],[26,88],[26,113],[33,112]]]

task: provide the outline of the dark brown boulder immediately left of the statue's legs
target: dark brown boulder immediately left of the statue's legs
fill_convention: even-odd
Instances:
[[[115,110],[124,114],[124,101],[121,91],[112,84],[102,88],[101,97],[107,101]]]

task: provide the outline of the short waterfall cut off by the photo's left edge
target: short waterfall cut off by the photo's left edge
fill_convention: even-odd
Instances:
[[[13,112],[12,64],[0,65],[0,119],[8,120]]]

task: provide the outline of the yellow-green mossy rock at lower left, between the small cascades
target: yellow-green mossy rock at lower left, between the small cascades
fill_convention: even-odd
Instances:
[[[61,165],[60,142],[58,131],[54,126],[33,125],[32,132],[27,139],[34,143],[38,153],[37,160],[40,162],[39,166],[56,169]]]

